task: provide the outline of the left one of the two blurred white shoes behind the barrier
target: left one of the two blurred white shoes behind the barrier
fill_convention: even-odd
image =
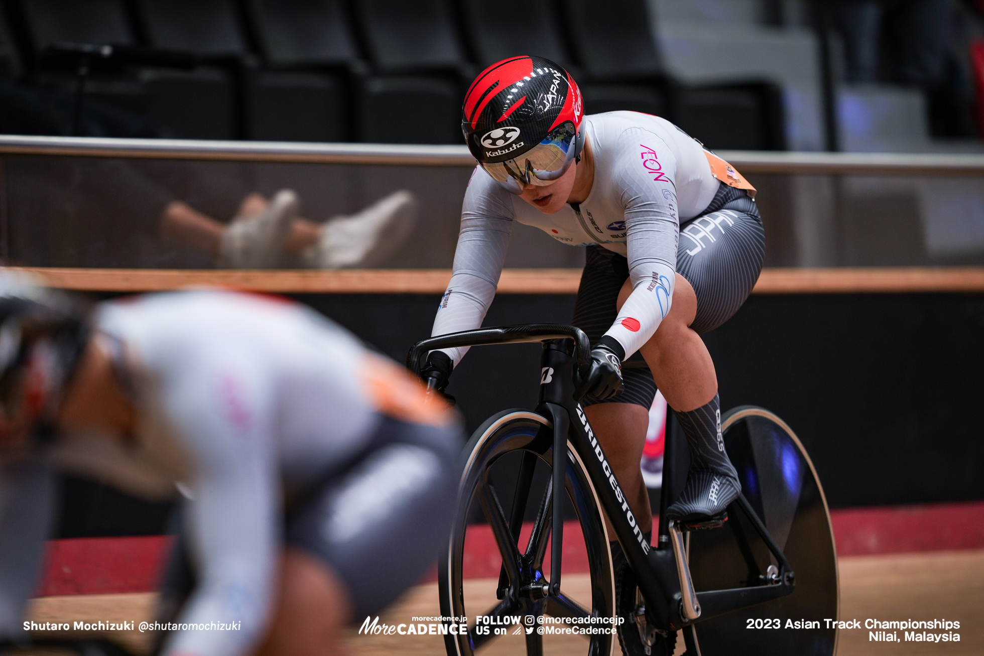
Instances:
[[[219,268],[275,268],[283,243],[290,234],[290,223],[297,216],[300,201],[290,189],[281,189],[270,207],[259,214],[232,220],[222,233],[218,247]]]

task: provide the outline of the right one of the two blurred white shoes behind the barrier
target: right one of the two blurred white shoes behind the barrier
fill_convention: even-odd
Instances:
[[[416,214],[416,197],[402,190],[351,216],[329,219],[318,243],[304,252],[304,264],[310,268],[385,264],[410,234]]]

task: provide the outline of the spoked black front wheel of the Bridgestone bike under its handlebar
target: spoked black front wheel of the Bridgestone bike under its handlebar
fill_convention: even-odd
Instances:
[[[550,571],[544,559],[549,553],[551,518],[553,512],[564,511],[552,504],[552,445],[550,421],[526,410],[491,417],[468,443],[455,523],[438,569],[442,615],[467,619],[467,632],[449,631],[445,636],[449,656],[471,656],[477,650],[516,653],[523,648],[529,656],[614,653],[617,641],[607,632],[612,626],[591,622],[615,615],[608,535],[584,463],[570,448],[564,486],[576,519],[565,525],[561,592],[543,594],[544,572]],[[500,497],[505,499],[510,492],[512,502],[504,509]],[[529,502],[538,504],[535,518],[523,524]],[[469,518],[478,517],[484,517],[488,528],[469,523]],[[491,569],[486,564],[486,577],[469,578],[473,564],[466,562],[470,557],[465,543],[474,542],[482,531],[491,532],[498,555]],[[575,563],[577,552],[569,550],[580,540],[584,540],[586,566]],[[488,576],[496,567],[498,578]],[[571,571],[585,568],[586,572]],[[477,617],[488,620],[476,624]],[[588,631],[570,632],[579,626]]]

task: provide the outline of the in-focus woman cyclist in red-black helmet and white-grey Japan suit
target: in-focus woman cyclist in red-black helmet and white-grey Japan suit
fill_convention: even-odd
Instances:
[[[461,209],[454,274],[433,335],[479,328],[513,221],[587,247],[574,324],[591,342],[584,411],[651,539],[640,459],[659,388],[690,447],[667,515],[719,516],[741,485],[721,439],[714,364],[701,333],[726,322],[762,268],[754,188],[665,119],[583,115],[568,73],[540,57],[493,64],[464,96],[461,129],[478,161]],[[442,391],[466,348],[433,351],[423,375]],[[621,363],[637,351],[646,369]]]

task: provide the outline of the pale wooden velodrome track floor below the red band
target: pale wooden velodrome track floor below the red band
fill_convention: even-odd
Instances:
[[[947,619],[960,623],[960,641],[950,643],[872,642],[868,630],[840,631],[839,656],[916,656],[946,654],[979,656],[984,653],[984,550],[889,554],[844,557],[840,568],[840,619],[931,620]],[[475,608],[496,604],[494,579],[465,581],[465,596]],[[586,574],[565,574],[565,589],[575,599],[584,598]],[[76,595],[42,597],[31,601],[26,619],[35,622],[118,622],[151,619],[154,593]],[[440,615],[437,584],[419,585],[409,590],[380,618],[388,624],[408,623],[415,617]],[[90,633],[92,634],[92,633]],[[146,653],[147,633],[105,631],[137,653]],[[65,634],[60,634],[63,637]],[[359,635],[349,629],[345,639],[352,654],[412,656],[444,653],[437,635]],[[584,639],[577,636],[544,639],[544,653],[560,656],[584,650]],[[679,654],[682,649],[678,649]],[[54,652],[25,652],[42,656]],[[522,638],[506,635],[494,641],[489,656],[522,654]],[[764,655],[765,656],[765,655]],[[791,655],[776,655],[791,656]]]

